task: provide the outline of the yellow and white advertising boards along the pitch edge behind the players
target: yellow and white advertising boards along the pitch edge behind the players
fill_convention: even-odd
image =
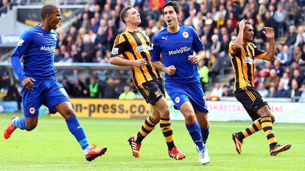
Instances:
[[[97,118],[146,118],[151,106],[145,100],[81,99],[71,98],[71,103],[79,117]],[[184,120],[174,103],[168,100],[173,120]],[[246,121],[250,117],[238,101],[207,101],[211,121]],[[276,115],[276,122],[305,123],[304,103],[269,102]],[[55,114],[51,116],[61,116]]]

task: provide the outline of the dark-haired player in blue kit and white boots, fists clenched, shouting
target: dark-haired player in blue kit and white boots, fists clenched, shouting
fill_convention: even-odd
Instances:
[[[200,84],[197,63],[205,57],[203,44],[193,27],[179,25],[179,4],[169,1],[163,7],[167,28],[153,39],[152,65],[165,72],[165,89],[185,117],[199,155],[199,162],[210,162],[205,142],[209,134],[208,109]],[[193,55],[193,52],[196,55]],[[160,62],[160,54],[164,65]]]

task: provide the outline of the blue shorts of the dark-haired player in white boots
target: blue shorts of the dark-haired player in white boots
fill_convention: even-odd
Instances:
[[[165,82],[165,89],[174,102],[175,109],[178,110],[184,102],[190,101],[194,111],[209,112],[199,81],[188,85]]]

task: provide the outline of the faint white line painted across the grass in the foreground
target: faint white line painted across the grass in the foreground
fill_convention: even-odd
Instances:
[[[278,161],[278,160],[304,160],[305,158],[274,158],[274,159],[256,159],[255,161]],[[172,162],[171,160],[168,160],[169,162]],[[245,159],[245,160],[211,160],[211,163],[214,162],[243,162],[243,161],[253,161],[253,159]],[[166,161],[162,161],[163,163]],[[168,163],[169,163],[168,162]],[[182,161],[184,163],[194,163],[197,162],[192,160],[192,161]],[[157,164],[160,163],[159,161],[154,161],[154,162],[145,162],[145,164]],[[92,166],[96,165],[98,163],[90,163],[90,164],[85,164],[85,163],[69,163],[69,164],[50,164],[50,165],[26,165],[26,166],[0,166],[0,168],[37,168],[37,167],[56,167],[56,166]],[[103,163],[103,165],[111,165],[111,164],[134,164],[134,162],[107,162]]]

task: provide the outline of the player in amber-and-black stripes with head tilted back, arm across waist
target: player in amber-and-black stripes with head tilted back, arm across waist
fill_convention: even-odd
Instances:
[[[164,97],[161,75],[151,62],[152,43],[145,31],[138,30],[140,14],[132,6],[126,6],[121,12],[121,19],[126,30],[115,38],[109,61],[114,65],[131,66],[134,85],[146,102],[152,105],[152,114],[143,122],[139,132],[128,139],[132,153],[134,157],[140,157],[142,140],[160,122],[170,157],[181,160],[185,154],[174,145],[170,108]]]

